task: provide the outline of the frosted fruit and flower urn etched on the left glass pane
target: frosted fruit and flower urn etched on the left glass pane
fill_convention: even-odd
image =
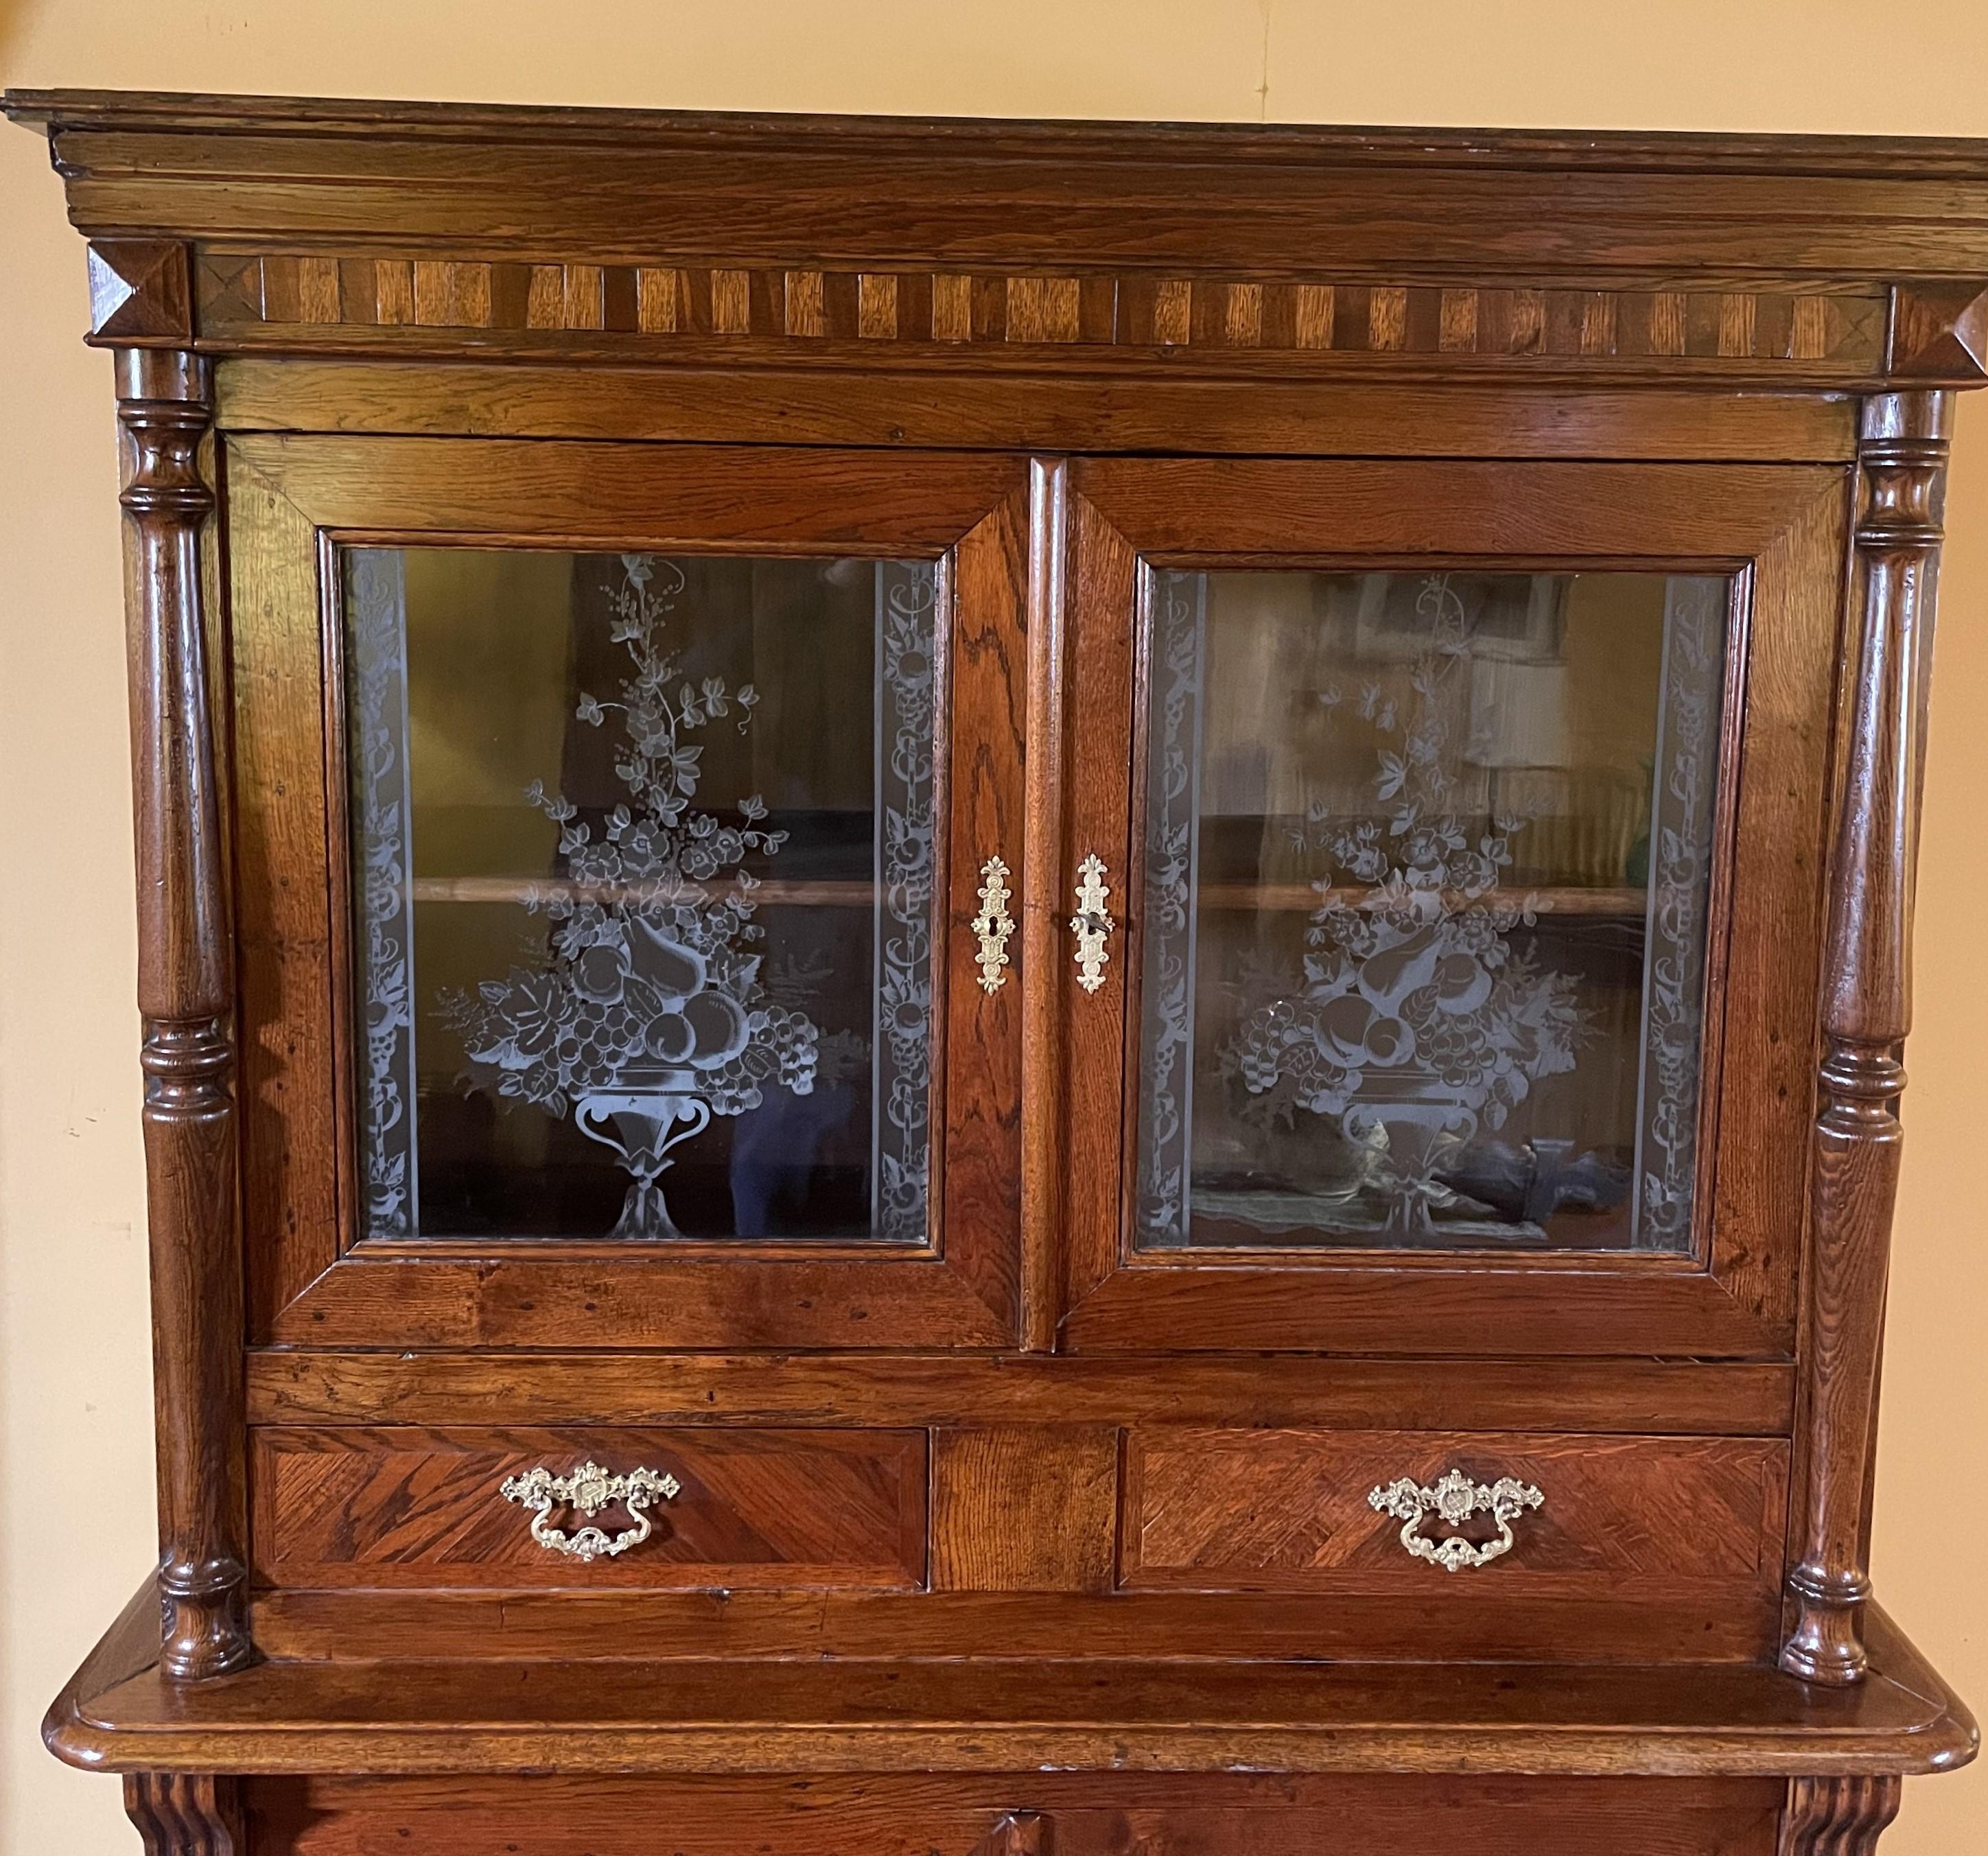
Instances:
[[[559,825],[563,882],[527,892],[553,920],[551,966],[513,968],[475,996],[445,1002],[463,1037],[471,1087],[573,1113],[634,1176],[614,1236],[672,1238],[660,1174],[668,1153],[714,1115],[757,1107],[765,1089],[807,1095],[819,1029],[761,984],[747,852],[771,856],[765,801],[738,801],[738,825],[698,811],[696,735],[751,725],[757,694],[724,678],[684,678],[664,644],[684,576],[646,554],[620,556],[608,638],[628,652],[618,699],[582,694],[575,717],[616,727],[614,773],[628,801],[598,823],[541,783],[527,799]],[[612,717],[612,721],[610,721]]]

